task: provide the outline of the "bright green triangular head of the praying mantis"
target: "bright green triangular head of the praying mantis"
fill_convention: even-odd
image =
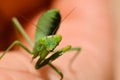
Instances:
[[[44,45],[47,48],[47,50],[52,51],[54,48],[56,48],[56,46],[61,40],[61,35],[51,35],[41,38],[40,44]]]

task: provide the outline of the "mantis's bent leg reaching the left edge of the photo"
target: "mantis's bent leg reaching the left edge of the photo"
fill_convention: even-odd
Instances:
[[[14,41],[4,52],[3,54],[0,56],[0,59],[2,59],[2,57],[16,44],[18,44],[20,47],[22,47],[23,49],[25,49],[28,53],[32,54],[32,52],[26,47],[24,46],[20,41]]]

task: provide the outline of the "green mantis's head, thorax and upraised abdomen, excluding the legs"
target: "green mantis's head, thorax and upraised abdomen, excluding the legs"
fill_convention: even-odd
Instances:
[[[60,21],[61,16],[57,9],[47,11],[39,19],[32,52],[33,59],[40,57],[39,63],[44,62],[46,56],[56,48],[62,39],[61,35],[54,35],[59,28]],[[39,68],[39,65],[36,65],[36,69]]]

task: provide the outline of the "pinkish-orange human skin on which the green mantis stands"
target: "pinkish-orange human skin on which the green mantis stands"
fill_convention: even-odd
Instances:
[[[57,34],[63,39],[58,48],[68,44],[82,48],[72,65],[73,72],[69,71],[68,64],[74,52],[68,52],[54,62],[63,72],[64,80],[113,80],[113,27],[109,2],[60,0],[51,5],[51,8],[60,9],[62,19],[74,9],[60,25]],[[41,12],[36,13],[24,24],[32,41],[35,27],[31,23],[36,24],[40,15]],[[49,66],[35,70],[31,57],[22,49],[8,52],[0,61],[0,80],[59,80]]]

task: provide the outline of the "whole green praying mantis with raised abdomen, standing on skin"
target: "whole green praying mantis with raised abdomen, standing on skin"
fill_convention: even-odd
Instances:
[[[29,54],[33,55],[32,60],[38,58],[35,64],[36,69],[40,69],[45,65],[49,65],[53,70],[55,70],[60,75],[60,80],[62,80],[63,73],[59,69],[57,69],[52,64],[52,62],[61,55],[63,55],[65,52],[75,50],[76,54],[73,56],[70,62],[72,63],[79,54],[81,48],[79,47],[73,48],[71,45],[67,45],[62,49],[55,50],[55,48],[59,45],[60,41],[62,40],[62,36],[56,34],[61,22],[61,15],[59,10],[58,9],[48,10],[40,17],[36,27],[34,44],[30,40],[24,29],[22,28],[21,24],[19,23],[16,17],[12,18],[12,22],[14,23],[15,27],[20,31],[20,33],[24,36],[24,38],[30,44],[33,50],[32,51],[29,50],[24,44],[22,44],[21,41],[16,40],[3,52],[3,54],[0,56],[0,59],[2,59],[3,56],[14,45],[17,44],[24,50],[26,50]]]

